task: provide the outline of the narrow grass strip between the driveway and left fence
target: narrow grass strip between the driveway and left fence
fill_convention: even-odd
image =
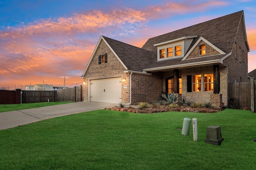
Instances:
[[[42,103],[23,103],[23,104],[0,104],[0,112],[30,109],[36,107],[53,106],[57,104],[67,104],[72,102],[42,102]]]

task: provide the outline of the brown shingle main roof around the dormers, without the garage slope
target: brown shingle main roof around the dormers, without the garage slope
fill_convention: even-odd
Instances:
[[[196,43],[196,41],[200,37],[204,37],[210,43],[212,43],[213,45],[218,47],[220,50],[228,54],[232,51],[232,47],[236,37],[236,32],[242,16],[243,16],[243,11],[240,11],[234,14],[229,14],[227,16],[216,18],[214,20],[192,25],[190,27],[186,27],[183,29],[179,29],[177,31],[173,31],[170,33],[166,33],[164,35],[159,35],[157,37],[148,39],[148,41],[143,45],[142,49],[151,51],[153,54],[152,55],[153,58],[152,58],[152,65],[146,66],[145,68],[156,68],[161,66],[176,65],[176,64],[182,64],[182,63],[185,64],[187,62],[192,63],[192,62],[197,62],[196,60],[205,61],[205,60],[221,59],[221,57],[224,57],[223,55],[214,56],[214,57],[204,57],[202,59],[198,58],[196,60],[181,61],[182,59],[175,59],[175,60],[157,62],[157,47],[154,47],[154,44],[161,43],[164,41],[170,41],[172,39],[177,39],[180,37],[198,35],[198,37],[194,38],[194,40],[192,41],[190,47],[188,48],[188,51],[191,49],[191,47]]]

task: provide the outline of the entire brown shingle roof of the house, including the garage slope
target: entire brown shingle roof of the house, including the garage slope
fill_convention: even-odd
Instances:
[[[126,65],[128,70],[142,71],[143,69],[147,68],[157,68],[163,66],[221,59],[225,55],[201,57],[185,61],[182,61],[182,58],[180,58],[157,62],[157,47],[154,47],[154,44],[178,39],[180,37],[198,35],[196,38],[194,38],[186,53],[188,53],[188,51],[200,37],[204,37],[210,43],[228,54],[232,51],[236,32],[238,30],[240,19],[243,16],[243,13],[243,11],[236,12],[220,18],[216,18],[214,20],[205,21],[203,23],[150,38],[142,48],[116,41],[108,37],[104,37],[104,39]]]

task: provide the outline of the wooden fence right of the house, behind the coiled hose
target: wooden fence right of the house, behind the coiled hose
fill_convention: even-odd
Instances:
[[[236,82],[229,84],[229,98],[235,98],[240,109],[248,107],[252,112],[256,106],[256,80],[250,82]]]

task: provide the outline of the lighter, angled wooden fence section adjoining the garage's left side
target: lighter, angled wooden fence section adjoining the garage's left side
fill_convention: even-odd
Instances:
[[[57,90],[57,101],[72,101],[72,102],[82,102],[84,101],[82,86],[77,86],[74,88],[63,88]]]

